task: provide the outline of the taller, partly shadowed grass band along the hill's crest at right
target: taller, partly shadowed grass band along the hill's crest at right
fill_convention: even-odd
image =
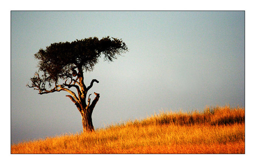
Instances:
[[[154,115],[146,120],[135,120],[133,124],[139,124],[141,126],[147,124],[175,124],[175,125],[193,125],[193,124],[234,124],[244,123],[245,111],[244,108],[230,108],[226,107],[213,107],[206,108],[203,112],[178,112],[172,113],[161,112],[159,115]]]

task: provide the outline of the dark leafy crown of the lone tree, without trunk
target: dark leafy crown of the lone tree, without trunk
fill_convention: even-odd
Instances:
[[[93,71],[94,65],[102,55],[104,60],[112,62],[126,51],[127,47],[120,39],[104,37],[99,40],[98,37],[90,37],[71,43],[52,43],[46,49],[40,49],[35,58],[39,60],[39,71],[43,72],[41,82],[51,85],[59,79],[72,78],[74,68],[85,72]],[[37,77],[34,77],[34,81],[35,79]]]

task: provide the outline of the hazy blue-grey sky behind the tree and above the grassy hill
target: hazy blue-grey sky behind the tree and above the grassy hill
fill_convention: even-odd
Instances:
[[[26,87],[34,54],[54,42],[105,36],[129,52],[84,73],[101,98],[94,127],[146,118],[159,110],[245,106],[244,11],[12,11],[11,142],[76,133],[79,111],[67,93]]]

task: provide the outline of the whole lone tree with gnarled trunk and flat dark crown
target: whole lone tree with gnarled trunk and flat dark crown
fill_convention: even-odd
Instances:
[[[93,79],[89,86],[84,84],[84,71],[93,71],[94,65],[104,55],[104,60],[112,62],[118,55],[128,51],[125,43],[116,38],[89,37],[73,42],[52,43],[46,49],[40,49],[34,56],[39,60],[38,72],[30,78],[34,90],[39,90],[40,95],[46,93],[66,91],[66,95],[76,105],[82,116],[83,132],[94,131],[91,114],[97,102],[99,93],[91,102],[88,90],[93,83],[99,83]],[[76,93],[70,89],[75,89]],[[90,104],[91,103],[91,104]]]

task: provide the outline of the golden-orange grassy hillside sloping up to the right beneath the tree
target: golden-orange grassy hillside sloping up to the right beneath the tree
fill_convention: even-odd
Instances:
[[[162,112],[93,133],[14,144],[11,153],[245,153],[245,109]]]

